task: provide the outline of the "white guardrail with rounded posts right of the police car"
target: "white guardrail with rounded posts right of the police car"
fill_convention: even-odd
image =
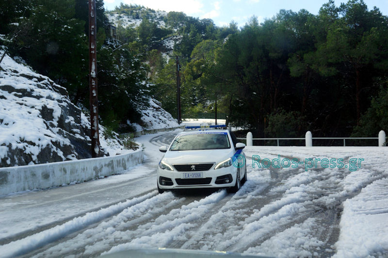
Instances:
[[[378,139],[378,146],[386,146],[386,134],[383,130],[379,132],[378,137],[312,137],[311,132],[307,131],[305,138],[253,138],[252,133],[248,132],[246,138],[238,137],[239,140],[246,140],[246,146],[253,146],[253,140],[277,140],[277,146],[279,145],[279,140],[305,140],[306,147],[312,147],[313,139],[343,139],[343,146],[346,146],[345,140],[347,139]]]

